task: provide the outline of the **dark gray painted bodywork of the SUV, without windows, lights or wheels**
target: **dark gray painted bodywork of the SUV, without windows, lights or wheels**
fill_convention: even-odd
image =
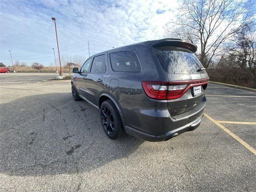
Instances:
[[[112,70],[108,59],[109,54],[120,51],[134,52],[138,57],[142,70],[140,72],[115,72]],[[95,106],[99,107],[101,96],[110,98],[120,112],[124,127],[126,127],[126,130],[130,130],[128,133],[131,134],[131,130],[137,130],[137,132],[152,136],[161,136],[167,133],[174,134],[176,132],[174,130],[179,130],[181,127],[188,129],[191,122],[202,117],[203,110],[200,110],[193,116],[174,120],[170,116],[170,112],[173,108],[180,106],[186,106],[184,112],[187,112],[195,107],[195,103],[199,104],[202,100],[206,102],[204,89],[202,89],[202,94],[196,97],[192,96],[192,89],[190,88],[186,94],[176,100],[154,100],[148,98],[144,93],[142,81],[198,80],[208,78],[207,73],[166,73],[160,66],[150,41],[115,48],[94,56],[101,54],[106,56],[106,72],[103,74],[74,74],[72,83],[78,89],[85,89],[85,96],[82,95],[81,91],[79,94]],[[102,82],[97,82],[98,79],[101,79]],[[167,136],[167,138],[170,137]],[[145,137],[143,138],[146,139]]]

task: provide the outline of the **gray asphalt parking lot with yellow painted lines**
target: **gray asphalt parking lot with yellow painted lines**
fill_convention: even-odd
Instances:
[[[0,191],[256,191],[256,93],[208,84],[195,131],[110,140],[52,76],[0,74]]]

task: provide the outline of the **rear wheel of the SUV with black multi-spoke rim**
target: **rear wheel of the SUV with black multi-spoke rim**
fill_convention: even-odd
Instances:
[[[117,139],[125,134],[118,109],[111,100],[106,100],[100,106],[100,120],[106,135]]]

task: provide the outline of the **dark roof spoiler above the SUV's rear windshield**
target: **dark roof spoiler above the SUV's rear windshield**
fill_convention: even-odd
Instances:
[[[164,47],[164,46],[182,47],[192,51],[193,53],[196,52],[197,50],[197,46],[195,44],[181,40],[181,39],[166,38],[166,39],[160,39],[160,40],[153,40],[151,41],[151,45],[154,48]]]

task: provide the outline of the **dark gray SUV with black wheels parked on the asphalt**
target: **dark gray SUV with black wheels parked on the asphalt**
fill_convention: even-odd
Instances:
[[[95,54],[80,70],[73,68],[72,96],[100,110],[111,139],[126,132],[165,141],[195,130],[209,79],[196,50],[180,39],[162,39]]]

